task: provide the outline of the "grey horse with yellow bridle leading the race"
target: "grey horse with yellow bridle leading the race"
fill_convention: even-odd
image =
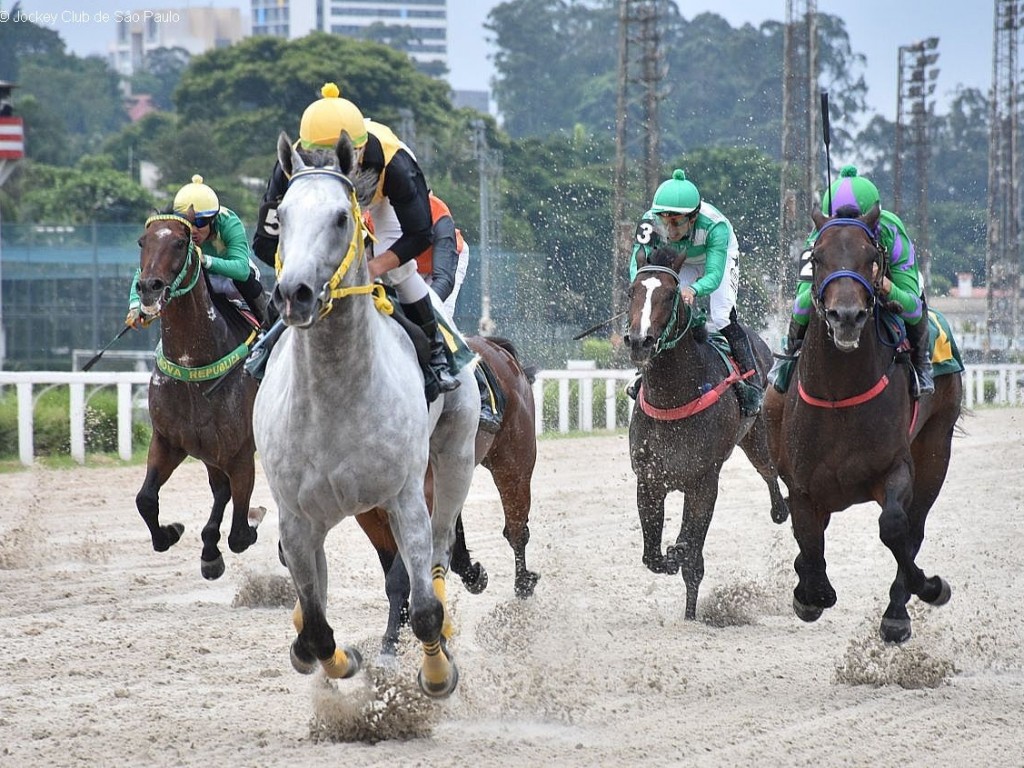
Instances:
[[[383,287],[370,281],[353,156],[347,134],[334,153],[312,156],[279,137],[291,180],[278,208],[273,301],[288,328],[256,397],[256,447],[298,593],[292,666],[309,674],[318,662],[334,678],[359,670],[358,651],[339,648],[327,622],[324,542],[343,518],[381,507],[410,574],[410,624],[424,650],[419,684],[440,697],[459,679],[444,578],[475,466],[479,396],[464,369],[462,386],[427,406],[413,342],[386,316]],[[428,462],[432,516],[423,490]]]

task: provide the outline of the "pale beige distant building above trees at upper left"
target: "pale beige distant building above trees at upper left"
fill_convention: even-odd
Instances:
[[[248,32],[238,8],[147,9],[118,16],[117,38],[108,50],[111,65],[125,76],[133,75],[157,48],[184,48],[198,55],[233,45]]]

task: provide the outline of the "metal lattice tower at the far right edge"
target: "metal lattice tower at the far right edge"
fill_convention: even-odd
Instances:
[[[994,351],[993,335],[1005,337],[1007,349],[1015,347],[1021,335],[1021,158],[1017,48],[1022,12],[1024,3],[995,0],[988,143],[988,240],[985,251],[986,357]]]

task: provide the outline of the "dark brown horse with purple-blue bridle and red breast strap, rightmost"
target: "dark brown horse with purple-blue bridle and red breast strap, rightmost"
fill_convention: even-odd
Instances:
[[[793,605],[813,622],[836,604],[825,528],[833,512],[873,501],[882,507],[879,536],[897,564],[881,634],[899,643],[910,637],[911,594],[933,605],[950,596],[949,585],[926,577],[914,559],[946,476],[963,382],[958,374],[937,376],[935,393],[912,400],[907,367],[898,362],[895,344],[880,338],[878,206],[860,218],[813,218],[815,311],[792,385],[784,395],[771,390],[766,401],[772,455],[790,488],[800,547]]]

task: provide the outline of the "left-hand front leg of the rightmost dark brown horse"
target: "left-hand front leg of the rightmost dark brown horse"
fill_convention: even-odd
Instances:
[[[836,604],[836,590],[825,572],[825,528],[830,513],[816,508],[804,494],[791,494],[793,536],[800,553],[794,561],[797,587],[793,609],[804,622],[816,622],[825,608]]]

